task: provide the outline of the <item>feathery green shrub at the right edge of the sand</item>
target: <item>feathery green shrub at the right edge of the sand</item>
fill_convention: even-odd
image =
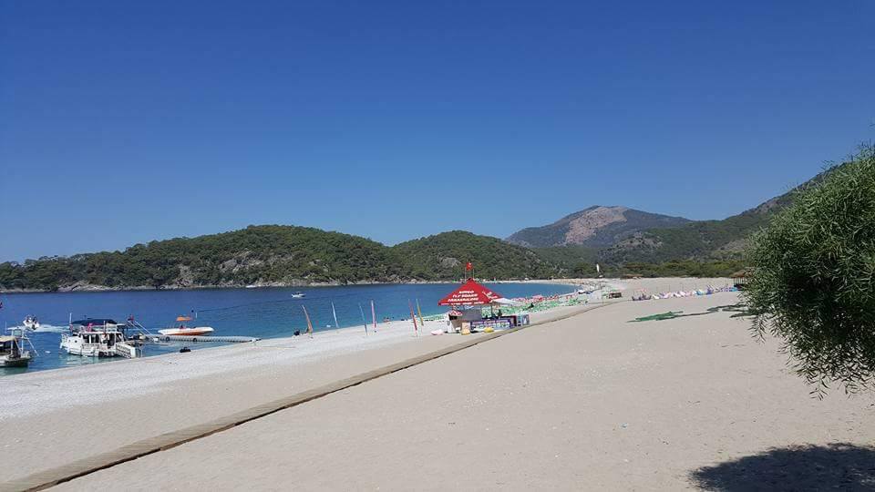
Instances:
[[[798,374],[822,395],[855,392],[875,374],[875,149],[799,190],[757,234],[746,302],[759,336],[784,340]]]

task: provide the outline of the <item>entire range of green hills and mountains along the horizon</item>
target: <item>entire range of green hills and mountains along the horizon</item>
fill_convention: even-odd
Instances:
[[[615,273],[726,274],[739,267],[750,234],[791,201],[792,192],[724,220],[594,206],[504,241],[449,231],[392,247],[314,228],[250,226],[125,251],[0,263],[0,291],[458,280],[468,261],[479,278],[499,280],[592,274],[596,261]],[[716,267],[703,270],[702,261]]]

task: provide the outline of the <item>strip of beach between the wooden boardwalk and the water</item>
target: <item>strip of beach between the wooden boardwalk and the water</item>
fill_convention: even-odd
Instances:
[[[534,313],[536,323],[577,308]],[[0,458],[23,477],[463,341],[409,321],[0,378]],[[477,334],[473,337],[479,336]],[[2,482],[3,480],[0,480]]]

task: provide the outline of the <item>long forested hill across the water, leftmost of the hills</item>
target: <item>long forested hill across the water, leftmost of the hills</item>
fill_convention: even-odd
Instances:
[[[4,289],[70,286],[232,286],[249,283],[392,282],[391,251],[376,241],[293,226],[138,244],[125,251],[0,264]]]

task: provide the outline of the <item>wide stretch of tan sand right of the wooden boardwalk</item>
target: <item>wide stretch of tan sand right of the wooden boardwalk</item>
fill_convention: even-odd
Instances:
[[[627,323],[736,301],[718,293],[610,304],[57,488],[875,485],[865,482],[875,478],[866,447],[875,395],[812,398],[778,344],[755,342],[731,313]],[[320,370],[335,371],[334,361]],[[253,391],[240,388],[230,382],[224,399]],[[200,403],[192,407],[213,404]]]

